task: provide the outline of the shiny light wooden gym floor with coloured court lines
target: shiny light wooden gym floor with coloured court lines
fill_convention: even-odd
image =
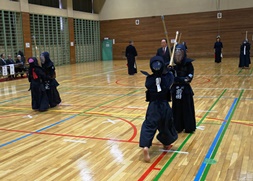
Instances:
[[[137,60],[150,72],[149,60]],[[253,180],[253,68],[238,58],[194,61],[198,129],[169,152],[153,140],[143,161],[139,135],[145,76],[126,60],[56,67],[62,104],[31,110],[27,79],[0,83],[0,180]]]

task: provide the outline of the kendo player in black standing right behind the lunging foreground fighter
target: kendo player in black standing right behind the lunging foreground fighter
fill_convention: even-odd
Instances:
[[[185,46],[177,44],[174,54],[175,70],[172,92],[172,111],[177,132],[193,133],[196,129],[195,108],[191,81],[194,75],[192,59],[187,58]]]

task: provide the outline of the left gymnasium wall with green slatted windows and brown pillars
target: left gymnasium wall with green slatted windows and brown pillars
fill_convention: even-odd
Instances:
[[[72,0],[62,2],[63,9],[29,4],[28,0],[0,0],[0,37],[3,40],[0,52],[14,57],[17,50],[22,50],[26,57],[30,57],[47,50],[55,65],[100,60],[98,14],[74,11]],[[102,6],[102,2],[96,4]],[[22,24],[18,28],[13,25],[12,29],[4,31],[4,25],[9,27],[10,22],[15,24],[10,18],[16,18],[13,14],[21,17]],[[78,23],[74,24],[75,21]],[[6,43],[7,40],[16,40],[18,33],[21,33],[22,40],[15,44],[13,41]]]

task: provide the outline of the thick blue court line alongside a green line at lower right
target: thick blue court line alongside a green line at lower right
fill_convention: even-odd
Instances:
[[[233,110],[235,108],[235,105],[236,105],[237,101],[238,101],[238,98],[235,98],[232,106],[230,107],[230,109],[228,111],[227,116],[225,117],[225,120],[223,121],[223,123],[222,123],[222,125],[221,125],[221,127],[220,127],[220,129],[218,131],[218,133],[216,134],[216,137],[215,137],[215,139],[214,139],[211,147],[209,148],[209,150],[208,150],[208,152],[206,154],[206,157],[205,157],[204,161],[211,158],[212,153],[215,150],[215,147],[216,147],[219,139],[221,138],[221,134],[224,131],[224,128],[225,128],[225,126],[226,126],[226,124],[228,122],[228,119],[229,119],[230,115],[232,114],[232,112],[233,112]],[[207,163],[204,163],[204,161],[202,162],[202,165],[199,168],[198,173],[196,174],[196,177],[195,177],[194,181],[199,181],[200,178],[202,177],[203,172],[204,172],[204,170],[205,170],[205,168],[207,166]]]

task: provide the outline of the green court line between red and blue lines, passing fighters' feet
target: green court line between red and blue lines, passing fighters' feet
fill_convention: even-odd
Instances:
[[[221,97],[225,94],[226,91],[227,91],[227,89],[223,90],[223,92],[221,93],[221,95],[217,98],[217,100],[213,103],[213,105],[208,109],[208,111],[205,113],[205,115],[198,122],[197,126],[199,126],[200,124],[202,124],[202,122],[205,120],[205,118],[207,117],[207,115],[209,114],[209,112],[218,103],[218,101],[221,99]],[[177,151],[180,151],[185,146],[185,144],[187,143],[187,141],[190,139],[191,136],[192,136],[192,134],[189,134],[185,138],[185,140],[183,141],[183,143],[178,147]],[[159,173],[157,174],[157,176],[154,178],[154,181],[158,181],[159,180],[159,178],[162,176],[162,174],[164,173],[164,171],[168,168],[168,166],[171,164],[171,162],[174,160],[174,158],[177,156],[177,154],[178,154],[177,152],[173,153],[173,155],[170,157],[170,159],[166,162],[166,164],[163,166],[163,168],[159,171]]]

